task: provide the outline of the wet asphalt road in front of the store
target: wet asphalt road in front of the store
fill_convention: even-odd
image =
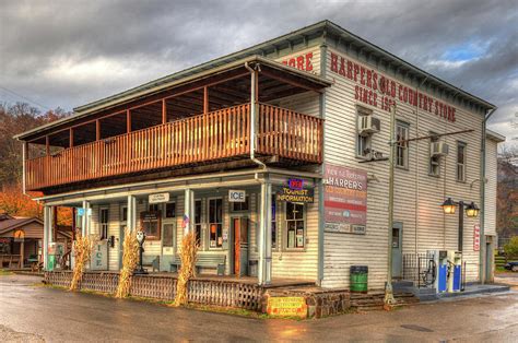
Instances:
[[[294,321],[117,300],[36,286],[37,282],[30,276],[0,275],[0,342],[516,342],[518,338],[516,291],[421,304],[391,312]]]

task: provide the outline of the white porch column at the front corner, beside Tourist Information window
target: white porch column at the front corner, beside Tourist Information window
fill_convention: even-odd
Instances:
[[[272,185],[269,181],[261,184],[261,201],[259,217],[259,271],[260,285],[271,283],[272,279]]]

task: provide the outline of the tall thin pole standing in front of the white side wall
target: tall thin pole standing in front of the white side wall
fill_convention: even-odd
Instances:
[[[385,284],[385,308],[389,308],[395,304],[393,291],[392,291],[392,225],[393,225],[393,149],[396,145],[395,140],[395,126],[396,126],[396,102],[393,103],[392,110],[390,111],[390,154],[389,154],[389,208],[388,208],[388,269],[387,269],[387,282]]]

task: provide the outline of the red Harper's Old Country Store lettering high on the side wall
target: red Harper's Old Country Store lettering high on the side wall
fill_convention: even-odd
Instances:
[[[354,97],[367,105],[390,110],[390,106],[396,103],[396,99],[399,99],[401,103],[419,107],[448,121],[455,122],[456,120],[455,107],[334,52],[331,52],[331,71],[357,83]],[[378,94],[380,95],[378,96]]]

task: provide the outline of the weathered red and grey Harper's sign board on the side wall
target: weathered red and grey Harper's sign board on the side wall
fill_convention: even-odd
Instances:
[[[323,215],[327,232],[365,234],[367,224],[367,173],[325,165]]]

